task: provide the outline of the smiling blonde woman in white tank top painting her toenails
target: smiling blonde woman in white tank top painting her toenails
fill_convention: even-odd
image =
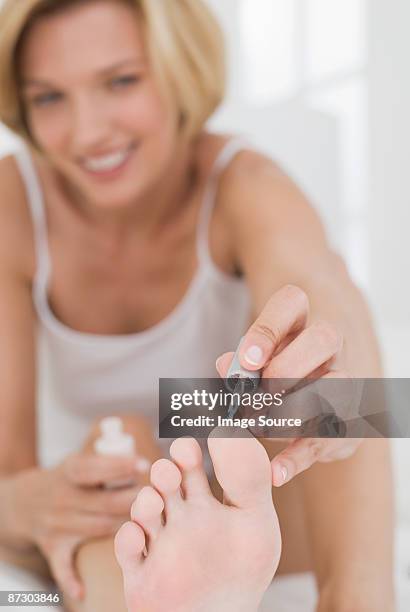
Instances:
[[[16,554],[37,547],[78,595],[75,550],[112,535],[135,497],[104,491],[101,506],[107,464],[73,456],[93,419],[155,420],[158,378],[213,376],[221,354],[226,374],[249,323],[241,359],[265,376],[378,376],[380,364],[363,300],[303,196],[270,160],[205,130],[224,69],[200,0],[8,0],[0,29],[0,119],[28,145],[0,165],[0,537]],[[40,342],[57,391],[48,412],[35,408]],[[266,445],[273,484],[287,485],[275,496],[282,571],[314,567],[321,610],[389,610],[386,445]],[[111,477],[133,470],[110,465]]]

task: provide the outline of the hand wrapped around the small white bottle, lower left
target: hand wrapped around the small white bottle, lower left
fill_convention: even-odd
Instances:
[[[35,468],[16,477],[20,532],[38,546],[73,599],[84,595],[74,565],[77,548],[91,538],[114,535],[139,489],[104,490],[101,485],[135,476],[135,458],[78,453],[54,469]]]

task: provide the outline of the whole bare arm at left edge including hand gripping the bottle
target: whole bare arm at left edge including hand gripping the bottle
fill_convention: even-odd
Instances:
[[[136,495],[100,483],[111,471],[134,476],[135,461],[73,454],[55,468],[37,466],[33,228],[12,159],[0,161],[0,219],[0,558],[47,577],[51,568],[67,597],[81,596],[76,548],[113,534]]]

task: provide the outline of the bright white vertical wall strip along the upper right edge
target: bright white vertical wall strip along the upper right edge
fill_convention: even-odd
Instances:
[[[410,362],[410,2],[369,0],[368,12],[371,297]]]

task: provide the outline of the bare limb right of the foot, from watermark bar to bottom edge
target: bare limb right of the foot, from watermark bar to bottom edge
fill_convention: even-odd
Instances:
[[[319,612],[392,612],[393,491],[386,440],[300,476]]]

